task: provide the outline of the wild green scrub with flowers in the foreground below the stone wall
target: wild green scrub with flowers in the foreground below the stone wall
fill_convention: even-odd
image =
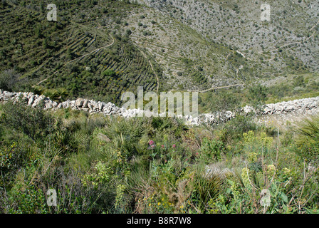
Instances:
[[[294,133],[241,116],[189,128],[19,103],[0,113],[1,213],[318,212],[318,118]]]

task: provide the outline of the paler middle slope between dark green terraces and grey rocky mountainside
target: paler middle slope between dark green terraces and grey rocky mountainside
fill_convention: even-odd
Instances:
[[[193,28],[152,7],[143,5],[122,24],[108,18],[100,20],[117,33],[129,31],[130,40],[145,48],[160,64],[169,89],[205,90],[212,86],[242,84],[253,76],[246,69],[258,70],[229,46],[207,41]],[[246,66],[245,71],[238,72],[241,65]]]

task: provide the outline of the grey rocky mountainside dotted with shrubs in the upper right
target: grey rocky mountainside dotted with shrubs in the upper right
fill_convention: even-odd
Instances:
[[[140,0],[181,21],[208,41],[236,48],[246,58],[282,73],[304,68],[318,70],[319,2]],[[271,21],[261,21],[263,4]],[[269,66],[268,66],[269,65]],[[267,75],[268,71],[264,72]]]

